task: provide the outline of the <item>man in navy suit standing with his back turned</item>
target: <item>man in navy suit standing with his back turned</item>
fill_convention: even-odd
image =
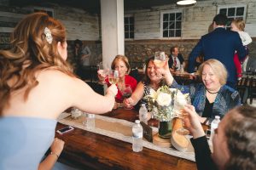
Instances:
[[[242,45],[241,38],[235,31],[226,31],[227,17],[224,14],[217,14],[213,19],[213,31],[202,36],[195,48],[189,54],[189,72],[195,71],[195,59],[203,54],[204,59],[218,59],[222,62],[229,77],[227,85],[236,87],[237,76],[234,64],[234,54],[237,51],[240,60],[246,57],[246,50]]]

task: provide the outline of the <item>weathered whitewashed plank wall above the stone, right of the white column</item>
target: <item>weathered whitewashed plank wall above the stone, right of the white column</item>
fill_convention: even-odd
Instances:
[[[148,10],[130,10],[125,14],[133,14],[135,19],[135,40],[138,39],[199,39],[208,32],[218,6],[243,4],[247,7],[246,31],[256,37],[256,0],[208,0],[198,1],[192,7],[165,5]],[[182,37],[162,38],[160,34],[160,11],[182,10]]]

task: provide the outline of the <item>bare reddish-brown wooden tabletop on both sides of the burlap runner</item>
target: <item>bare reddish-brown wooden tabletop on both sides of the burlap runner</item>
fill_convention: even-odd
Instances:
[[[108,112],[104,116],[131,122],[138,118],[137,111],[123,108]],[[56,129],[64,126],[58,123]],[[145,147],[143,151],[136,153],[132,151],[130,143],[79,128],[63,135],[56,133],[55,136],[65,141],[59,161],[80,169],[196,169],[194,161],[170,156]]]

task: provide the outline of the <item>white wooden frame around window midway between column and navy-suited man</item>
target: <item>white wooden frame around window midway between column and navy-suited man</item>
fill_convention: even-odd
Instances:
[[[181,13],[181,16],[182,16],[180,37],[163,37],[164,14],[176,14],[176,13]],[[182,9],[161,10],[160,11],[160,38],[162,38],[162,39],[181,39],[182,37],[183,37],[183,10]]]

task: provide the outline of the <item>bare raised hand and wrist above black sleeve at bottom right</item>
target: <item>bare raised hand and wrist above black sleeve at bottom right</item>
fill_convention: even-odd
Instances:
[[[189,114],[189,116],[183,118],[183,121],[194,139],[204,136],[205,132],[201,127],[201,122],[195,112],[195,107],[193,105],[185,105],[184,110]]]

